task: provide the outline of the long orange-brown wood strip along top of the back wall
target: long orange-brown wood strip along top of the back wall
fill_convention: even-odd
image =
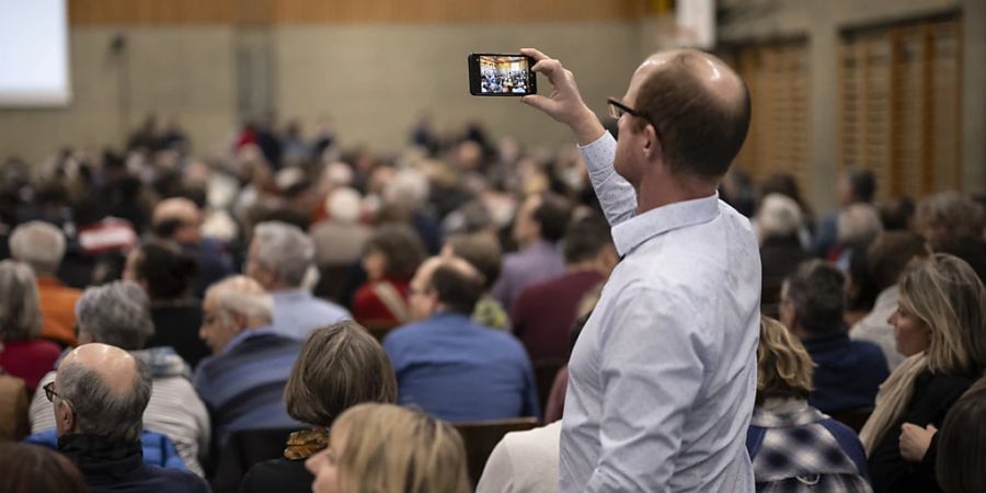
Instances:
[[[578,22],[653,11],[647,0],[69,0],[76,25]]]

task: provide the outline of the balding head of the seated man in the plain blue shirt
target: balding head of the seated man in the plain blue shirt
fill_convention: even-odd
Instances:
[[[424,320],[440,311],[471,314],[483,295],[483,276],[458,256],[428,259],[411,279],[411,314]]]

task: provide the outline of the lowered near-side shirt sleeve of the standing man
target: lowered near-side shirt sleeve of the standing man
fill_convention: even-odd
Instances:
[[[673,293],[620,298],[600,339],[600,455],[585,491],[665,492],[704,372],[698,314]]]

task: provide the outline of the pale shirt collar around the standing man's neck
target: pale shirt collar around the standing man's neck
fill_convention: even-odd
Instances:
[[[676,202],[634,216],[612,228],[617,252],[624,256],[651,238],[675,229],[709,222],[719,216],[719,193]]]

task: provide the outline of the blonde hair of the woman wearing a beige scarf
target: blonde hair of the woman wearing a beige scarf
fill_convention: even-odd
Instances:
[[[931,331],[929,370],[978,376],[986,368],[986,288],[965,261],[937,253],[914,262],[901,279],[901,305]]]

